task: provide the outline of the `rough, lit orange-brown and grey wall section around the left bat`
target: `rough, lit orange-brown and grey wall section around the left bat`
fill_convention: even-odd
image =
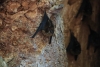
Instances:
[[[0,67],[67,67],[62,0],[0,3]],[[31,38],[45,11],[55,26],[51,44],[41,31]]]

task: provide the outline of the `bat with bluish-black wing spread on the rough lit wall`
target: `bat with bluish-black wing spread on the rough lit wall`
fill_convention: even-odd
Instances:
[[[48,18],[46,12],[44,13],[42,22],[40,23],[38,29],[36,30],[32,38],[34,38],[39,31],[42,31],[44,35],[50,37],[49,44],[51,44],[52,35],[54,33],[54,25],[52,21]]]

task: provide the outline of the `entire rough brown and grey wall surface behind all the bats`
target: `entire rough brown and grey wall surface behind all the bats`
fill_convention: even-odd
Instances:
[[[84,22],[82,14],[75,18],[81,2],[82,0],[5,0],[0,4],[1,67],[100,67],[99,50],[94,53],[93,47],[86,49],[90,34],[87,24],[100,33],[100,2],[90,1],[93,12]],[[31,38],[45,10],[55,25],[51,44],[48,44],[49,37],[42,32]],[[82,48],[77,61],[66,53],[70,29]]]

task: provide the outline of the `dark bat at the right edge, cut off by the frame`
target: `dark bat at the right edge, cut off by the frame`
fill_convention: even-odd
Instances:
[[[88,45],[87,49],[89,49],[90,45],[94,46],[94,53],[100,47],[100,35],[91,29],[90,25],[88,25],[90,34],[88,36]]]

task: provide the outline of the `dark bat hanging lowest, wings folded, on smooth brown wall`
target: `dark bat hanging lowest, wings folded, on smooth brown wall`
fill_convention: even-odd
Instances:
[[[71,32],[70,42],[66,51],[74,56],[75,61],[77,60],[78,55],[81,53],[81,46],[74,36],[73,32]]]

